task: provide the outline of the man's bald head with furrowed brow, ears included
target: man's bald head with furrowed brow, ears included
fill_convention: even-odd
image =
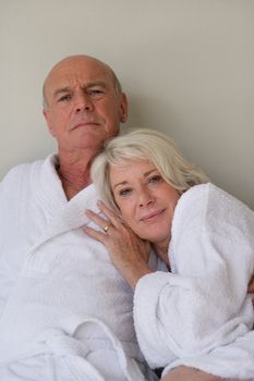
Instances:
[[[47,124],[59,150],[97,152],[126,119],[126,98],[110,70],[88,57],[61,61],[45,82]]]

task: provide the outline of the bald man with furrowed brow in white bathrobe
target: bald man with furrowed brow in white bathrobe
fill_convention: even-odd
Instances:
[[[156,380],[137,346],[132,292],[81,229],[87,207],[98,212],[90,163],[125,122],[126,97],[108,65],[74,56],[48,74],[44,103],[58,155],[0,184],[0,379]]]

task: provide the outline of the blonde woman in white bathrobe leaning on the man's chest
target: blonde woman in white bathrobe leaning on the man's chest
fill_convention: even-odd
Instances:
[[[87,211],[100,229],[84,230],[107,246],[134,291],[149,366],[165,368],[162,380],[174,380],[178,367],[253,379],[254,212],[152,130],[110,140],[92,175],[104,214]],[[155,272],[150,247],[161,259]]]

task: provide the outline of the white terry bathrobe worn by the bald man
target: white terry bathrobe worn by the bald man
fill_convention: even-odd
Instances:
[[[19,165],[0,184],[0,380],[155,380],[133,294],[81,229],[86,208],[98,212],[94,186],[68,201],[55,164]]]

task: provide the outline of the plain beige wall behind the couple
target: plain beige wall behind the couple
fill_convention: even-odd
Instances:
[[[56,149],[41,85],[69,54],[108,62],[128,126],[168,132],[254,209],[253,0],[0,0],[0,176]]]

